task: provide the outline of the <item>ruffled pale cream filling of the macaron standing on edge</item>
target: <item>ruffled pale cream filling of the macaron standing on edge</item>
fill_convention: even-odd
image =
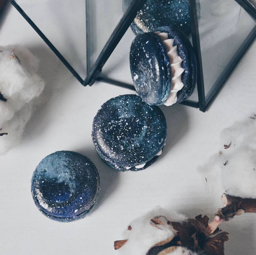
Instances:
[[[185,69],[181,67],[183,59],[178,55],[177,45],[173,45],[174,40],[168,39],[167,33],[161,33],[157,31],[155,34],[161,38],[170,60],[172,77],[171,91],[164,105],[171,106],[177,102],[177,93],[184,87],[184,83],[181,80],[181,75],[185,71]]]

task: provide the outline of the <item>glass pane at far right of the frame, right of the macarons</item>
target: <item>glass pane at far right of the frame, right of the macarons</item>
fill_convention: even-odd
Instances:
[[[201,1],[199,33],[206,97],[255,25],[235,0]]]

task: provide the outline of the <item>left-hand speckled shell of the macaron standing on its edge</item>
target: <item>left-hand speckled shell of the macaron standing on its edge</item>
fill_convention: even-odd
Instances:
[[[149,105],[162,105],[171,90],[171,67],[158,35],[136,36],[130,48],[130,71],[138,95]]]

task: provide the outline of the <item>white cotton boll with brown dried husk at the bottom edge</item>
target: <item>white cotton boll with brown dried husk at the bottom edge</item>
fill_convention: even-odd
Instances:
[[[123,234],[127,238],[115,241],[114,249],[123,255],[224,255],[228,233],[218,228],[210,232],[207,216],[186,219],[169,214],[152,217],[150,213],[131,222]]]

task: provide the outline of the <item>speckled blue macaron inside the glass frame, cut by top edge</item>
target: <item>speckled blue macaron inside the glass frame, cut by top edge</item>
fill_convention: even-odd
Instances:
[[[125,11],[132,0],[123,0]],[[200,2],[197,3],[198,18],[200,18]],[[170,26],[181,29],[186,35],[191,33],[191,20],[188,0],[147,0],[141,11],[131,24],[134,34],[154,32],[160,26]]]

